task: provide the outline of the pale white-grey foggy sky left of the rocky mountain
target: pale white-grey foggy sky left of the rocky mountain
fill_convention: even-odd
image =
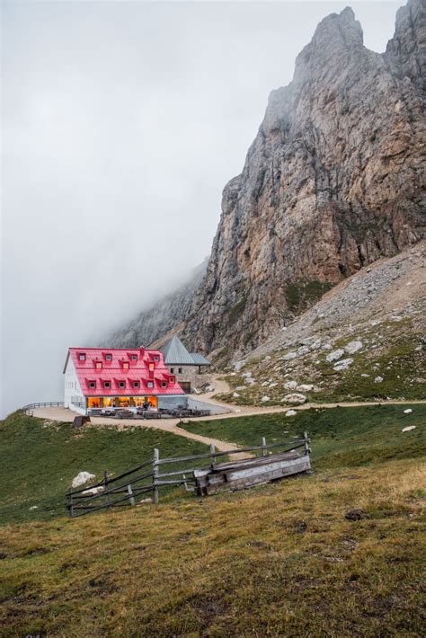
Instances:
[[[208,254],[272,89],[348,2],[10,2],[2,12],[2,408]],[[352,2],[382,51],[399,2]]]

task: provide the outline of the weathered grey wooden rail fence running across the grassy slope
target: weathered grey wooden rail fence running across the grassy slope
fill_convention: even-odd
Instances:
[[[274,478],[280,478],[283,475],[296,474],[300,471],[306,471],[310,467],[309,464],[309,448],[310,439],[307,433],[304,432],[303,438],[290,439],[280,441],[279,443],[266,443],[266,439],[262,439],[262,445],[253,447],[239,447],[227,452],[219,452],[214,445],[210,446],[210,451],[205,454],[198,454],[193,456],[171,456],[170,458],[160,458],[160,452],[155,448],[154,456],[144,463],[133,467],[128,472],[119,474],[118,476],[110,476],[107,470],[103,473],[102,481],[91,485],[84,485],[78,490],[69,490],[67,493],[67,510],[71,518],[77,516],[84,516],[84,514],[90,514],[99,510],[110,510],[111,508],[123,507],[123,506],[135,506],[139,501],[140,496],[146,497],[151,494],[152,501],[157,504],[159,501],[160,490],[170,489],[173,487],[183,486],[186,492],[197,492],[201,494],[214,493],[215,490],[209,490],[204,487],[206,474],[215,474],[215,483],[218,483],[217,477],[224,475],[226,470],[231,468],[234,473],[235,470],[239,470],[239,473],[244,474],[248,472],[251,474],[251,479],[248,480],[246,486],[250,486],[262,481],[262,474],[260,480],[253,483],[253,466],[256,467],[257,472],[262,473],[262,467],[264,467],[265,481],[272,480]],[[295,454],[299,448],[304,449],[303,456]],[[274,450],[274,452],[271,452]],[[275,452],[276,450],[276,452]],[[279,451],[280,450],[280,451]],[[229,461],[224,464],[217,464],[217,458],[224,456],[232,457],[233,455],[241,455],[241,453],[247,453],[250,455],[243,461],[234,462]],[[278,453],[277,453],[278,452]],[[265,458],[268,456],[268,458]],[[287,456],[288,465],[294,464],[294,459],[297,456],[301,461],[307,459],[305,465],[300,465],[303,469],[295,469],[295,471],[281,471],[281,474],[277,474],[276,470],[271,473],[269,465],[277,465],[277,463],[285,462]],[[209,461],[209,466],[206,467],[206,462]],[[204,467],[200,465],[204,464]],[[173,468],[173,465],[177,467]],[[168,471],[165,471],[168,470]],[[256,470],[254,470],[255,472]],[[275,474],[274,474],[275,473]],[[200,478],[203,477],[203,482],[200,483]],[[226,477],[225,477],[226,480]],[[251,481],[251,482],[250,482]],[[236,489],[242,489],[244,487],[239,480],[238,487]],[[229,488],[232,489],[232,485],[229,484]],[[216,490],[217,491],[217,490]]]

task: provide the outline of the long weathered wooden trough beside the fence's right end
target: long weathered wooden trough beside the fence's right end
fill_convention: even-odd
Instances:
[[[209,468],[194,470],[195,489],[200,496],[223,490],[244,490],[310,469],[307,451],[303,456],[297,452],[286,452],[245,458],[242,461],[212,464]]]

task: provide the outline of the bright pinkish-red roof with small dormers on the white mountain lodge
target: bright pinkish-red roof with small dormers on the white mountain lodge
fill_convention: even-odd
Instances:
[[[80,355],[84,355],[84,359]],[[111,360],[108,360],[110,356]],[[165,366],[163,354],[159,350],[70,348],[65,368],[69,357],[73,361],[84,396],[185,394],[176,382],[176,377]],[[97,368],[96,364],[102,364],[102,367]],[[150,370],[150,367],[153,369]],[[89,387],[93,382],[96,386]],[[109,382],[110,387],[105,387],[105,382]],[[125,387],[120,387],[122,382]],[[134,387],[135,382],[138,387]],[[166,384],[164,387],[162,382]],[[154,385],[150,387],[148,383]]]

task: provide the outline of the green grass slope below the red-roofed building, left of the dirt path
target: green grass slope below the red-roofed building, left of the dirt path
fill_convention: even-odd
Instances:
[[[105,468],[120,474],[152,458],[191,455],[208,447],[159,430],[116,427],[73,430],[20,412],[0,422],[0,523],[62,516],[73,478],[85,470],[102,478]],[[36,505],[37,510],[30,510]]]

